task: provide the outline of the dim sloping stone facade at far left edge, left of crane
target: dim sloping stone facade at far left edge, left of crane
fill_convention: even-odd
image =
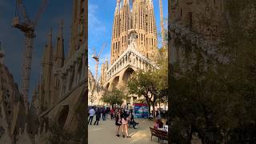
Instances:
[[[13,143],[24,130],[25,107],[18,85],[0,58],[0,143]]]

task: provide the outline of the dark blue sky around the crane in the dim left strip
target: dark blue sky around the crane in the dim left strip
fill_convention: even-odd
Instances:
[[[23,0],[26,6],[27,14],[30,18],[34,18],[38,12],[38,7],[41,4],[40,1],[28,1]],[[58,23],[61,19],[64,20],[64,38],[65,38],[65,52],[67,52],[70,39],[70,26],[72,19],[73,1],[49,0],[45,12],[39,19],[38,26],[36,28],[37,37],[34,39],[34,51],[32,60],[32,71],[30,80],[30,94],[34,88],[35,83],[38,83],[38,78],[41,70],[42,51],[46,45],[46,37],[53,27],[53,44],[56,43],[56,34],[58,31]],[[15,0],[1,0],[0,1],[0,41],[2,47],[5,50],[5,65],[10,70],[10,73],[14,75],[14,81],[18,83],[20,87],[22,77],[22,54],[24,50],[24,36],[23,34],[11,27],[12,18],[14,17]],[[55,47],[54,47],[55,48]]]

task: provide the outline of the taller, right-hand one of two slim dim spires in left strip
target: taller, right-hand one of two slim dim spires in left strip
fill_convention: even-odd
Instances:
[[[60,22],[57,36],[57,47],[54,54],[54,66],[62,67],[64,65],[64,38],[63,38],[63,20]]]

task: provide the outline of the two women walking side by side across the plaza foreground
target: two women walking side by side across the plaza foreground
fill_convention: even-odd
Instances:
[[[129,120],[129,114],[126,114],[126,111],[123,109],[118,109],[115,116],[115,125],[117,126],[117,129],[116,129],[117,137],[120,137],[118,133],[120,130],[120,126],[122,126],[122,137],[125,138],[125,134],[126,134],[126,138],[130,138],[128,134],[128,120]]]

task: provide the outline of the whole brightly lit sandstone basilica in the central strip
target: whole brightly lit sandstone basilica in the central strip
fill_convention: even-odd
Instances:
[[[132,2],[132,3],[130,3]],[[110,62],[101,66],[99,85],[102,90],[126,90],[130,75],[137,70],[153,70],[157,66],[158,35],[152,0],[117,0],[114,10]],[[125,103],[132,104],[136,96]],[[94,104],[98,105],[100,95]]]

